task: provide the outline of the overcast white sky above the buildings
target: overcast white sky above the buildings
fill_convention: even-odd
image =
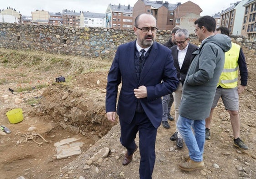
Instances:
[[[49,12],[62,12],[64,9],[79,11],[89,11],[105,13],[107,6],[112,5],[131,5],[132,7],[138,0],[1,0],[0,9],[7,7],[20,11],[22,15],[30,15],[32,11],[45,10]],[[155,0],[152,0],[155,1]],[[188,0],[163,0],[172,4],[177,2],[187,2]],[[214,15],[221,10],[230,7],[230,3],[235,3],[239,0],[191,0],[193,3],[200,6],[203,12],[200,15]],[[245,3],[247,0],[244,0]]]

